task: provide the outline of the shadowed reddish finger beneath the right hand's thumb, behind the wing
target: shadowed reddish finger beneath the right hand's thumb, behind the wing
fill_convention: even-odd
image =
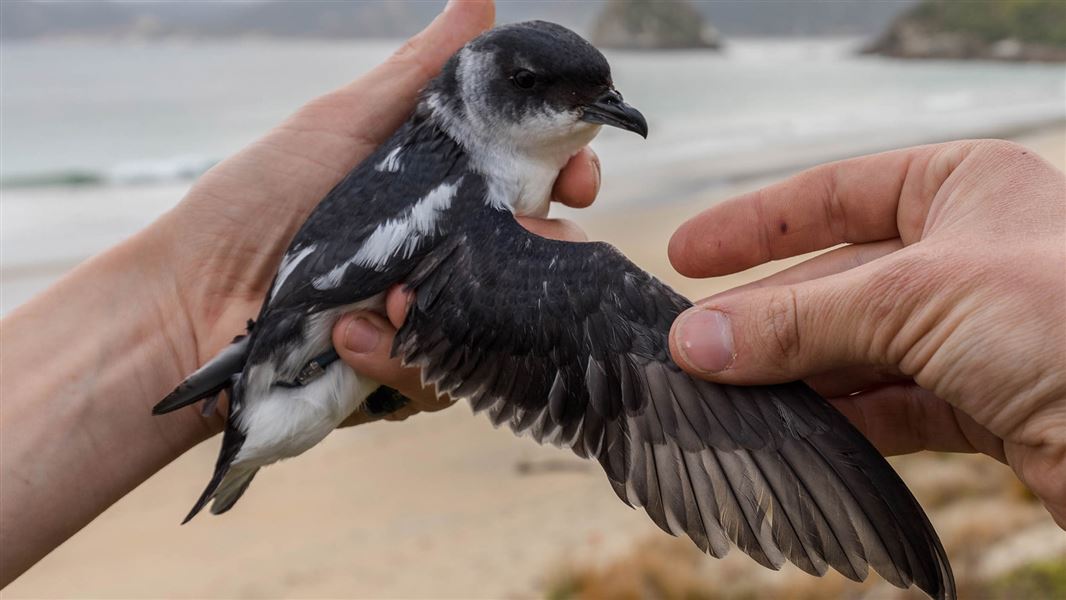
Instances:
[[[983,452],[1006,459],[1002,440],[915,385],[887,386],[829,402],[886,456],[935,450]]]

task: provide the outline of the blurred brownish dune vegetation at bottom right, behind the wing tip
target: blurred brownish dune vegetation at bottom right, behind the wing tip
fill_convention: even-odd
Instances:
[[[986,456],[958,454],[892,463],[940,533],[959,598],[1066,598],[1066,539],[1010,469]],[[927,598],[914,588],[897,589],[874,572],[861,584],[833,571],[813,578],[792,565],[775,573],[736,549],[717,560],[688,539],[660,534],[611,556],[561,562],[545,578],[543,595],[550,600]]]

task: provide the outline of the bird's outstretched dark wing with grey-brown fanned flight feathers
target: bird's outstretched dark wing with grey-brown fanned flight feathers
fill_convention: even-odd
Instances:
[[[618,497],[723,556],[954,597],[943,548],[884,457],[802,383],[733,387],[671,359],[690,303],[607,244],[483,210],[426,255],[394,352],[491,421],[599,461]]]

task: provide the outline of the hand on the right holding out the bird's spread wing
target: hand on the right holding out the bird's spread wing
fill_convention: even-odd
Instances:
[[[669,256],[706,277],[841,243],[682,313],[674,358],[805,379],[886,454],[994,456],[1066,528],[1066,176],[1002,141],[862,157],[704,212]]]

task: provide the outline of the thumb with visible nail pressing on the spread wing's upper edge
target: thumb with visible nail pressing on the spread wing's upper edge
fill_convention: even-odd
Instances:
[[[877,310],[866,302],[872,275],[859,271],[869,270],[712,296],[674,321],[674,360],[699,377],[740,385],[878,362],[873,338],[883,328],[870,326]]]

